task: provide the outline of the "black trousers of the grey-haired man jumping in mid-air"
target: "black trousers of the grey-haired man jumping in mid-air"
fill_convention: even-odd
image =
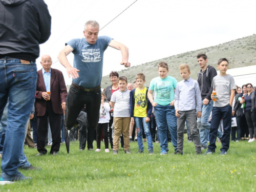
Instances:
[[[88,129],[96,129],[99,121],[100,102],[100,89],[93,92],[87,92],[74,88],[73,85],[71,85],[67,97],[67,108],[65,111],[66,127],[70,130],[76,124],[76,119],[85,104]]]

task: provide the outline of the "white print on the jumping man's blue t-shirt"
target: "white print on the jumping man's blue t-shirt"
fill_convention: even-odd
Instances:
[[[83,62],[99,62],[101,61],[100,49],[82,49]]]

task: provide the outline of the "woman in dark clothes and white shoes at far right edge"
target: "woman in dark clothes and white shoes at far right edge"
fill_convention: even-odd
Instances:
[[[253,142],[256,139],[256,109],[255,109],[255,95],[253,86],[251,83],[248,83],[247,94],[244,96],[244,100],[241,100],[240,103],[245,102],[245,118],[249,127],[250,139],[248,142]]]

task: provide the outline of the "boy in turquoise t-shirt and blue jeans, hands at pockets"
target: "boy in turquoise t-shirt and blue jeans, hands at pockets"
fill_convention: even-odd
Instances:
[[[172,135],[172,143],[177,151],[177,117],[174,109],[174,90],[176,88],[177,80],[174,77],[167,76],[169,72],[166,62],[158,64],[159,77],[152,79],[150,82],[150,89],[147,96],[152,106],[154,106],[156,114],[157,129],[160,138],[160,155],[166,155],[169,151],[167,140],[167,125]],[[153,99],[153,92],[155,98]]]

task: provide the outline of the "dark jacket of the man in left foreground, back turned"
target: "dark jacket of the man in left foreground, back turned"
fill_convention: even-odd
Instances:
[[[0,58],[35,61],[39,44],[51,34],[51,16],[43,0],[0,0]]]

